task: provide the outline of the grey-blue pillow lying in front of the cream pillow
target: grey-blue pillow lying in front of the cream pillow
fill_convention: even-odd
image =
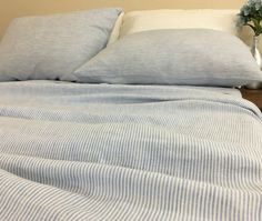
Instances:
[[[234,87],[261,81],[249,48],[214,30],[153,30],[120,39],[74,72],[80,82]]]

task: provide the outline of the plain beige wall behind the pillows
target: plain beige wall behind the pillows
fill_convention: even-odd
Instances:
[[[16,17],[46,14],[101,7],[142,9],[238,9],[243,0],[0,0],[0,37]]]

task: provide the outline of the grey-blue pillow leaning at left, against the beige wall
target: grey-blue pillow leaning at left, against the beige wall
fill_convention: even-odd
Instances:
[[[75,81],[73,71],[102,50],[120,9],[16,19],[0,43],[0,81]]]

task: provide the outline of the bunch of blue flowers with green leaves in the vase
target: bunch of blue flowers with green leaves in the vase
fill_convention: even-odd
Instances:
[[[255,36],[262,33],[262,0],[249,0],[238,14],[238,26],[249,26]]]

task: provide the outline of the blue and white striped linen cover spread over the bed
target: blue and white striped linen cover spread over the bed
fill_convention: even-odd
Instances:
[[[0,83],[0,220],[262,220],[262,114],[233,90]]]

